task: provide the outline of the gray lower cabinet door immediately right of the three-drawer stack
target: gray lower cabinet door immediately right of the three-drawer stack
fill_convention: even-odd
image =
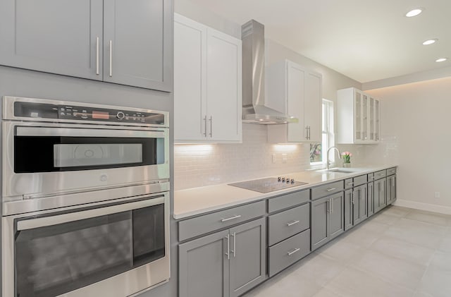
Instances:
[[[329,240],[329,212],[329,197],[311,202],[311,250],[316,250]]]

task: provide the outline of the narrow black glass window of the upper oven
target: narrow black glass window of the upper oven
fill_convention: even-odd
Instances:
[[[163,138],[14,136],[14,171],[19,174],[163,163]]]

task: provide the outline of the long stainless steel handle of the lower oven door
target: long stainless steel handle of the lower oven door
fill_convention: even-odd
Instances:
[[[45,226],[53,226],[68,222],[80,221],[82,219],[90,219],[93,217],[101,217],[107,214],[115,214],[118,212],[126,212],[128,210],[137,210],[144,207],[159,205],[164,203],[164,196],[148,200],[140,200],[136,202],[123,203],[108,207],[95,208],[93,210],[82,210],[80,212],[70,212],[68,214],[57,214],[51,217],[38,217],[36,219],[23,219],[17,222],[17,230],[35,229]]]

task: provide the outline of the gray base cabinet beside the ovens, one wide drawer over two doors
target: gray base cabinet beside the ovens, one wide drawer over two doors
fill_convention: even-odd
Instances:
[[[179,296],[240,296],[266,279],[265,201],[179,222]],[[218,227],[220,226],[220,227]]]

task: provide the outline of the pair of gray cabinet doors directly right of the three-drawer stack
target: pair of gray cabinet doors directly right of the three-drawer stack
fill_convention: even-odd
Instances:
[[[343,192],[311,202],[311,250],[345,231]]]

